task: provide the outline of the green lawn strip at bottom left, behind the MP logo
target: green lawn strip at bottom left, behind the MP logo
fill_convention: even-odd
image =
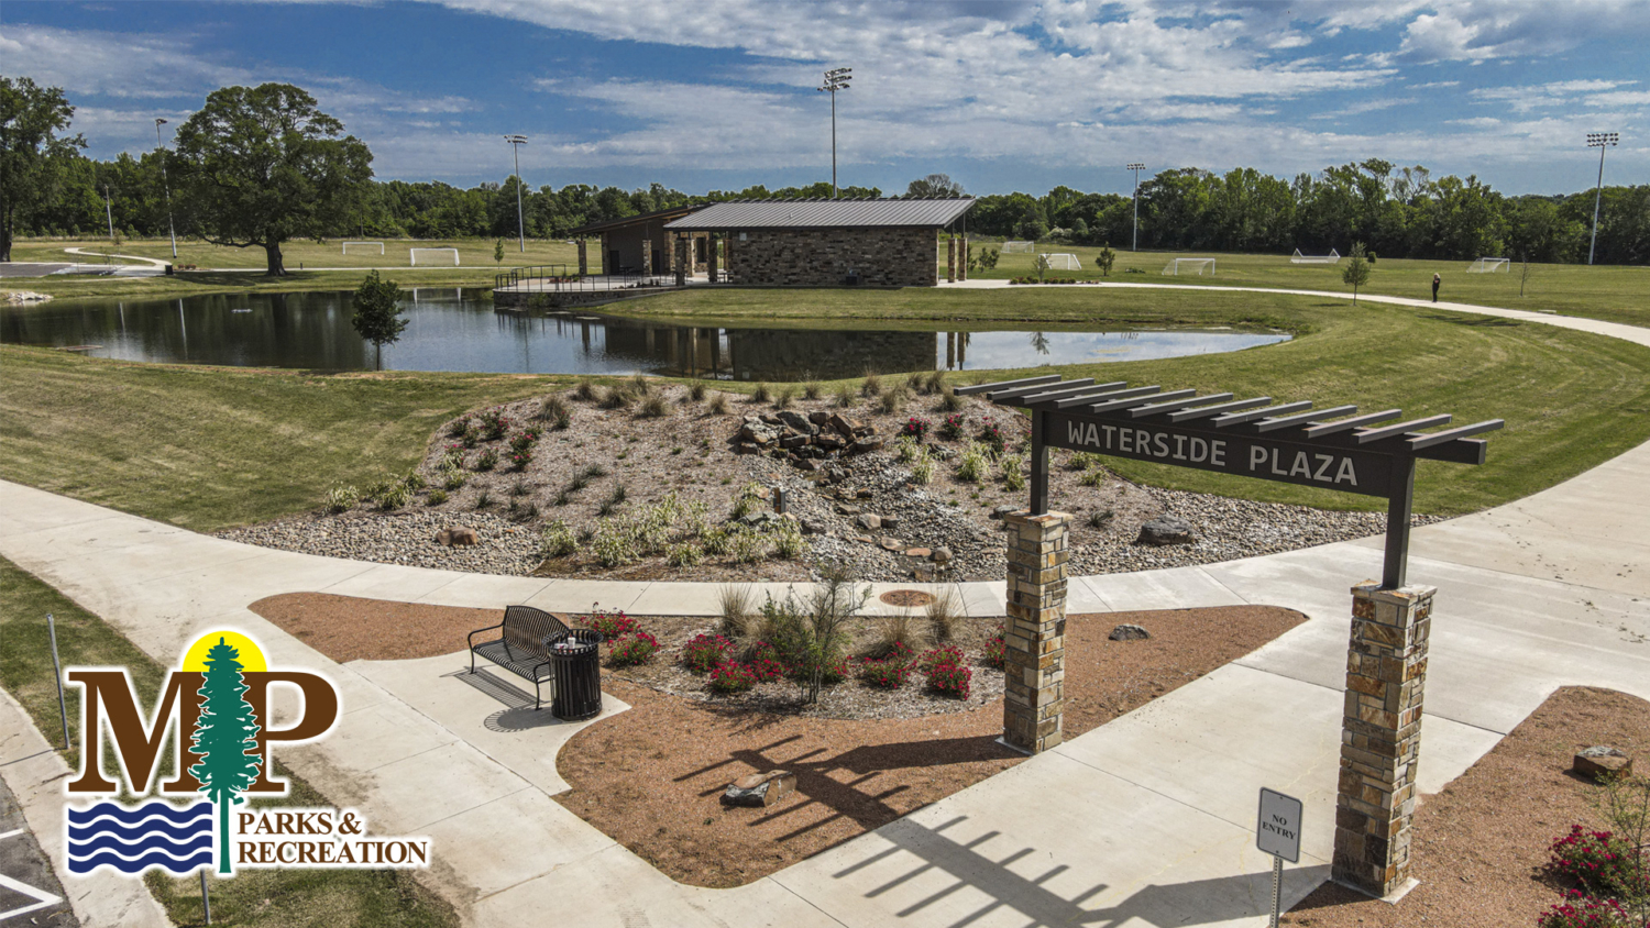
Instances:
[[[51,674],[46,613],[58,626],[58,651],[64,666],[124,666],[140,699],[158,692],[165,668],[140,651],[102,618],[86,612],[35,575],[0,559],[0,686],[30,714],[35,727],[54,747],[61,740],[58,691]],[[79,689],[66,691],[69,729],[79,742]],[[145,699],[147,702],[147,699]],[[150,712],[144,705],[144,712]],[[170,743],[162,753],[162,773],[170,773]],[[64,760],[79,766],[78,752]],[[276,762],[292,781],[290,794],[269,804],[330,806],[302,778]],[[112,762],[106,770],[114,770]],[[262,803],[259,803],[262,804]],[[150,874],[144,880],[175,925],[201,925],[200,882]],[[459,925],[452,907],[417,885],[406,870],[243,870],[233,880],[208,880],[213,925],[248,928],[450,928]]]

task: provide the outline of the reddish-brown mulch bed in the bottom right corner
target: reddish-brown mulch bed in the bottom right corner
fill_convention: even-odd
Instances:
[[[1313,928],[1490,928],[1534,925],[1563,885],[1541,872],[1572,824],[1604,827],[1600,788],[1569,773],[1572,755],[1612,745],[1650,763],[1650,702],[1564,687],[1490,753],[1416,811],[1414,875],[1398,905],[1325,883],[1287,916]],[[1426,750],[1422,747],[1422,750]]]

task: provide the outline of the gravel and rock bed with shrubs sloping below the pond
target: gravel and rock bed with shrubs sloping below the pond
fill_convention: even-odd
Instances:
[[[355,560],[406,564],[450,570],[510,575],[554,575],[602,580],[808,580],[825,564],[842,564],[855,577],[874,582],[901,580],[1000,580],[1005,574],[1005,539],[993,513],[1025,504],[1025,491],[1011,491],[1000,478],[965,483],[955,476],[959,442],[929,438],[936,476],[919,485],[908,465],[891,450],[845,457],[833,465],[843,471],[840,483],[810,480],[782,460],[736,455],[733,435],[746,415],[767,412],[731,394],[716,412],[714,394],[703,402],[685,387],[655,387],[668,397],[668,412],[644,417],[627,409],[601,409],[596,402],[564,394],[573,410],[566,430],[544,434],[533,462],[523,471],[503,466],[467,471],[467,483],[446,501],[431,491],[441,483],[439,462],[454,440],[447,430],[432,438],[417,471],[429,486],[408,508],[378,511],[356,508],[342,514],[322,511],[261,526],[229,529],[221,537]],[[535,422],[538,401],[498,407],[513,422]],[[898,412],[881,412],[871,401],[846,410],[830,399],[795,401],[792,409],[843,412],[873,425],[891,438],[909,415],[931,422],[944,417],[937,397],[912,396]],[[970,399],[962,414],[972,429],[998,422],[1008,434],[1010,450],[1025,440],[1020,417],[1003,414]],[[470,452],[474,460],[488,445]],[[502,447],[495,442],[492,447]],[[507,450],[507,448],[505,448]],[[1020,448],[1023,450],[1023,448]],[[1211,564],[1241,557],[1277,554],[1381,534],[1384,513],[1328,511],[1308,506],[1252,503],[1201,493],[1138,486],[1091,465],[1072,466],[1068,452],[1056,452],[1049,491],[1076,519],[1071,529],[1071,569],[1079,575],[1152,570]],[[582,490],[566,493],[591,465],[606,473]],[[544,560],[540,536],[551,521],[589,531],[604,518],[601,503],[625,488],[627,501],[617,514],[635,511],[675,493],[683,503],[703,503],[711,521],[728,518],[736,494],[749,483],[766,491],[785,488],[787,511],[805,529],[808,549],[795,560],[767,557],[738,564],[731,557],[706,555],[695,567],[670,567],[662,554],[640,557],[620,567],[602,567],[587,552]],[[525,513],[507,518],[507,506]],[[861,514],[891,518],[893,527],[866,529]],[[1140,526],[1158,516],[1176,516],[1195,529],[1191,544],[1152,547],[1137,544]],[[1416,516],[1414,524],[1439,521]],[[442,547],[436,532],[467,526],[477,531],[475,547]],[[888,544],[893,551],[883,547]],[[949,549],[944,565],[927,557],[908,555],[912,549]]]

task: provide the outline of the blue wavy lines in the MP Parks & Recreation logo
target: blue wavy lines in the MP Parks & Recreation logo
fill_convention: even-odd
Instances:
[[[142,874],[158,867],[183,875],[213,862],[213,804],[206,801],[182,809],[165,799],[135,808],[97,803],[69,808],[68,818],[71,874],[97,867]]]

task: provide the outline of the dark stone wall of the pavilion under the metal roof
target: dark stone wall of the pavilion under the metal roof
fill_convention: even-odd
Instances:
[[[934,229],[754,229],[731,239],[734,284],[835,287],[860,272],[866,287],[934,287]]]

